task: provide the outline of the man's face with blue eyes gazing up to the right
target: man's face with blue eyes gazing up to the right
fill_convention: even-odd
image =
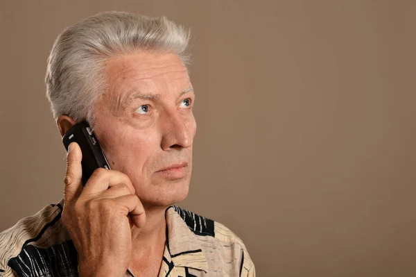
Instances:
[[[129,176],[145,205],[182,201],[196,133],[195,95],[182,60],[173,53],[117,56],[105,62],[105,74],[94,131],[110,167]]]

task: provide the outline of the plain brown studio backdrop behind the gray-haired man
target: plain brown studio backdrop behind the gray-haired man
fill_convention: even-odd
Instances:
[[[192,28],[182,206],[234,230],[259,276],[416,275],[416,1],[1,1],[1,230],[62,197],[46,58],[105,10]]]

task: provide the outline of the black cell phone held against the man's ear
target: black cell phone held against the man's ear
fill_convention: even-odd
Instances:
[[[81,121],[72,126],[65,133],[64,137],[62,137],[62,142],[67,151],[69,144],[76,142],[83,152],[83,160],[81,160],[83,167],[83,185],[87,183],[92,172],[98,167],[110,169],[104,152],[87,121]]]

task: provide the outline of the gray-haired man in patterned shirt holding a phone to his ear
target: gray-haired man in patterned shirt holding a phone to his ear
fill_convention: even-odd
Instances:
[[[196,133],[189,32],[166,17],[105,12],[66,28],[46,71],[60,134],[88,121],[112,169],[83,187],[69,145],[64,199],[0,234],[0,276],[254,276],[228,228],[186,198]]]

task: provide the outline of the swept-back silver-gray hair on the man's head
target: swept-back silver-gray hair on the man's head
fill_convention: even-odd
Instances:
[[[58,35],[46,68],[46,96],[55,120],[69,115],[94,121],[94,103],[105,92],[104,61],[138,50],[175,53],[188,65],[191,32],[166,17],[103,12]]]

